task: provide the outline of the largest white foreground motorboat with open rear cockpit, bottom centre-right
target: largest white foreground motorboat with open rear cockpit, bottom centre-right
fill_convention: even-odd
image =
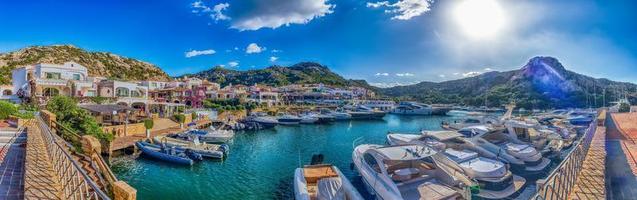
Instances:
[[[437,163],[438,151],[424,145],[363,144],[352,159],[369,193],[376,199],[467,199],[468,179]]]

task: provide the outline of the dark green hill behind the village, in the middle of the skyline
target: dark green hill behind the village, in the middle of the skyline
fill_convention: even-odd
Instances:
[[[364,80],[345,79],[332,72],[328,67],[313,62],[302,62],[289,67],[271,66],[265,69],[248,71],[213,67],[206,71],[184,76],[206,79],[208,81],[217,82],[222,86],[228,84],[254,85],[255,83],[271,86],[323,83],[333,86],[358,86],[368,89],[377,89],[367,84]]]

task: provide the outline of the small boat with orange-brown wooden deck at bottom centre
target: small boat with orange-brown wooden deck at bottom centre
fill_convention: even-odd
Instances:
[[[295,170],[294,199],[363,200],[363,197],[336,166],[318,164]]]

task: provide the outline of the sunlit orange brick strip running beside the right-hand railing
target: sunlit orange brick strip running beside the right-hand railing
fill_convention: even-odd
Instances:
[[[606,128],[598,127],[570,199],[606,199]]]

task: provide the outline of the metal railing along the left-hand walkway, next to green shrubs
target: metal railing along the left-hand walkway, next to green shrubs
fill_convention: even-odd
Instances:
[[[73,160],[73,157],[60,144],[62,140],[53,134],[42,118],[37,115],[37,124],[42,130],[41,134],[49,153],[53,170],[60,178],[62,185],[62,199],[106,199],[110,200],[88,174]]]

